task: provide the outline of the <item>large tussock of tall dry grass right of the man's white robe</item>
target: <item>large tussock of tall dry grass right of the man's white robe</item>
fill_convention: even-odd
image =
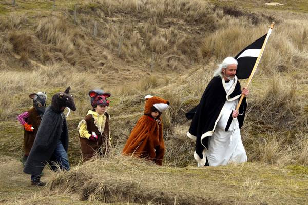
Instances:
[[[294,84],[282,83],[273,76],[265,94],[250,104],[244,130],[244,144],[251,160],[288,164],[304,163],[306,156],[303,134],[307,119],[296,95]],[[301,156],[300,158],[298,156]]]

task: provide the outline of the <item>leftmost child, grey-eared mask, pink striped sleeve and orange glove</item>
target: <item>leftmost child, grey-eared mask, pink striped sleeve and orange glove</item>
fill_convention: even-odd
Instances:
[[[29,97],[33,99],[33,107],[17,116],[18,121],[24,127],[25,153],[24,157],[21,159],[23,165],[25,165],[29,156],[38,126],[40,126],[43,114],[45,112],[47,95],[46,93],[38,92],[30,94]]]

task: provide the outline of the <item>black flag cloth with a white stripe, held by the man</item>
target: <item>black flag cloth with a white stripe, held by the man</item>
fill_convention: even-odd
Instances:
[[[236,70],[236,76],[238,79],[249,78],[255,66],[256,60],[260,55],[266,35],[267,33],[235,56],[235,59],[238,61]]]

